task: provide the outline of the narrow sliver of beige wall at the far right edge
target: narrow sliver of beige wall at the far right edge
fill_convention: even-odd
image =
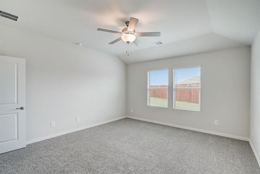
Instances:
[[[250,87],[250,140],[260,157],[260,31],[251,46]],[[252,136],[253,130],[254,137]]]

